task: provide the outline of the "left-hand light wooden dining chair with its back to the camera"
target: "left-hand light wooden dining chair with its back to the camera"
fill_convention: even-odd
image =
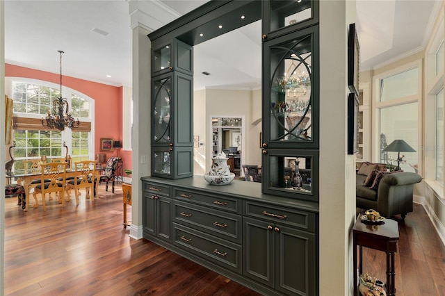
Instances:
[[[58,200],[65,206],[65,181],[67,174],[67,163],[44,163],[40,165],[40,184],[35,186],[33,197],[37,200],[37,194],[42,195],[43,211],[47,211],[45,195],[51,192],[58,193]],[[49,180],[49,181],[48,181]],[[36,206],[34,206],[36,208]]]

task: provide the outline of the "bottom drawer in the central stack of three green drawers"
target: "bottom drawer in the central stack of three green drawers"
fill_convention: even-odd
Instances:
[[[241,273],[241,245],[220,240],[177,223],[173,223],[173,245]]]

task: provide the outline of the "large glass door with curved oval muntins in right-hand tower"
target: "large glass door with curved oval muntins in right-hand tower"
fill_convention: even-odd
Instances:
[[[318,95],[314,79],[314,34],[298,35],[265,46],[270,63],[268,93],[263,118],[266,147],[316,148],[318,145]],[[270,44],[271,43],[271,44]],[[300,144],[294,146],[294,144]]]

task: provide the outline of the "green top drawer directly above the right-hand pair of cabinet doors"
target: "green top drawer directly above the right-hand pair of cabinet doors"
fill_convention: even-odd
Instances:
[[[298,211],[280,206],[245,202],[245,213],[249,217],[261,218],[272,222],[280,222],[306,231],[315,232],[316,215],[305,211]]]

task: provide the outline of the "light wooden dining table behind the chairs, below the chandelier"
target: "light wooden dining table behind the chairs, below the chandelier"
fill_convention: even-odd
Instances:
[[[99,175],[101,174],[101,172],[103,170],[104,170],[103,166],[97,165],[97,167],[95,169],[95,175],[96,175],[95,177],[99,178]],[[76,174],[81,174],[81,172],[76,171],[74,167],[67,168],[66,179],[68,179],[69,177],[76,176]],[[14,174],[14,173],[6,174],[7,179],[15,179],[15,181],[17,181],[18,184],[21,184],[23,186],[25,194],[26,194],[26,204],[25,204],[25,208],[23,209],[23,211],[25,211],[25,212],[27,212],[28,208],[29,208],[29,197],[31,195],[31,193],[30,193],[31,183],[36,179],[40,179],[41,176],[42,176],[42,174],[40,172],[30,173],[30,174]],[[99,182],[97,182],[96,184],[99,184]],[[97,185],[96,185],[96,187],[97,187]],[[64,192],[65,192],[64,195],[67,195],[66,190],[64,190]],[[96,188],[96,192],[97,192],[97,188]],[[34,199],[35,199],[35,204],[33,207],[37,208],[38,207],[38,199],[37,199],[37,197],[34,197]],[[70,198],[68,197],[67,199],[65,199],[65,202],[70,202]]]

